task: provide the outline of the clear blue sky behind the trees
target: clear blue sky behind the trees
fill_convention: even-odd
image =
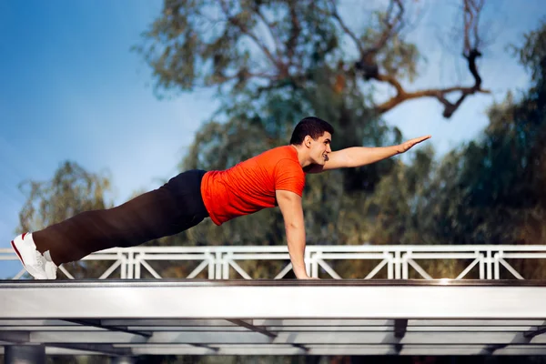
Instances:
[[[521,43],[539,24],[543,2],[489,2],[484,20],[491,23],[491,44],[480,72],[493,94],[470,97],[450,121],[435,100],[410,102],[385,116],[407,137],[432,134],[440,154],[477,136],[487,124],[487,106],[529,79],[504,47]],[[355,29],[362,21],[353,6],[362,4],[347,0],[341,8]],[[408,88],[471,83],[464,63],[452,61],[460,45],[442,45],[436,36],[453,25],[456,2],[418,4],[423,15],[409,38],[427,63]],[[161,6],[159,0],[0,0],[0,248],[14,237],[25,202],[17,185],[50,179],[66,159],[92,172],[109,170],[116,203],[177,173],[217,101],[208,90],[169,100],[154,95],[150,69],[130,47]],[[0,278],[15,268],[0,262]]]

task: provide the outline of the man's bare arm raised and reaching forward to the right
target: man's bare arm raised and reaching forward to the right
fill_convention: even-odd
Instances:
[[[429,138],[430,136],[420,136],[410,139],[398,146],[390,147],[348,147],[329,153],[329,159],[324,166],[315,165],[306,169],[306,172],[320,173],[329,169],[366,166],[379,162],[379,160],[407,152],[411,147]]]

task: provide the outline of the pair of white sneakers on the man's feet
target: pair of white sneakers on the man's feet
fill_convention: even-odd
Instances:
[[[36,250],[32,234],[25,233],[12,240],[12,248],[26,271],[36,279],[55,279],[57,266],[51,260],[49,251],[45,254]]]

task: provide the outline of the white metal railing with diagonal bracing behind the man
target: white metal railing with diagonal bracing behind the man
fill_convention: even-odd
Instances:
[[[319,277],[322,269],[329,277],[340,279],[338,272],[332,267],[331,261],[339,260],[379,260],[374,268],[362,278],[374,278],[382,269],[386,269],[389,279],[410,278],[413,269],[420,278],[432,279],[430,273],[422,268],[420,262],[435,262],[439,260],[471,260],[465,262],[466,268],[460,271],[455,279],[467,277],[472,269],[478,270],[480,279],[500,279],[501,269],[505,269],[511,277],[524,279],[521,273],[506,259],[542,259],[546,264],[546,245],[496,245],[496,246],[308,246],[305,253],[305,264],[311,277]],[[0,249],[0,261],[17,260],[10,248]],[[116,277],[122,279],[142,278],[143,269],[154,278],[163,278],[153,268],[152,262],[194,262],[194,268],[187,278],[196,278],[203,273],[209,279],[229,279],[232,269],[239,277],[251,279],[248,272],[241,267],[240,262],[259,260],[278,260],[283,262],[278,274],[272,278],[283,278],[292,268],[286,246],[275,247],[136,247],[112,248],[92,254],[83,260],[112,261],[105,269],[100,279]],[[205,270],[207,269],[207,270]],[[60,270],[67,278],[74,278],[69,269],[61,266]],[[13,279],[25,277],[25,269],[20,270]],[[436,277],[438,278],[438,277]],[[545,277],[546,278],[546,277]]]

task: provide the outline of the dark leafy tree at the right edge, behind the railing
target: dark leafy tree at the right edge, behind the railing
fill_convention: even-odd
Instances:
[[[445,157],[423,195],[418,219],[426,241],[450,244],[541,244],[546,240],[546,24],[512,46],[531,87],[490,106],[478,140]],[[525,278],[541,264],[513,263]]]

